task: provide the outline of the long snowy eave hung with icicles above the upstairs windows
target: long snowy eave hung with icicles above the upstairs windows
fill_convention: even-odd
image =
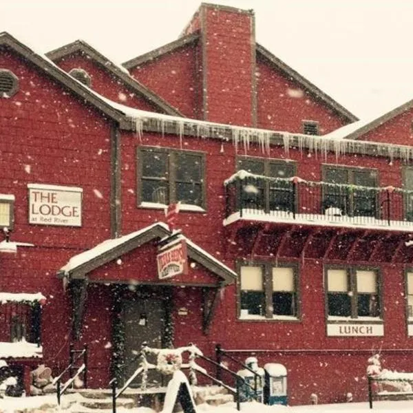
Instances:
[[[251,144],[255,144],[260,146],[264,153],[268,153],[271,145],[283,146],[287,157],[289,150],[294,148],[300,151],[308,149],[308,151],[316,154],[319,153],[325,158],[327,153],[332,152],[335,153],[337,158],[346,153],[361,153],[362,155],[383,156],[389,158],[390,161],[394,158],[401,158],[405,162],[413,160],[412,146],[344,138],[344,136],[350,134],[350,131],[353,131],[352,129],[363,127],[366,121],[358,121],[330,134],[316,136],[157,114],[127,107],[107,98],[101,98],[108,105],[111,105],[114,109],[131,119],[135,124],[135,131],[140,139],[145,130],[157,131],[162,134],[176,134],[180,140],[182,140],[183,136],[218,138],[223,141],[233,142],[235,150],[237,150],[238,145],[248,149]],[[367,123],[370,123],[370,121]]]

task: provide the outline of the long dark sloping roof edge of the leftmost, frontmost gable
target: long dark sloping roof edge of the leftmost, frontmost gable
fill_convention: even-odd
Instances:
[[[94,93],[88,87],[85,87],[82,83],[76,81],[76,79],[61,70],[42,54],[34,52],[30,47],[15,39],[8,32],[0,33],[0,49],[3,47],[16,52],[22,56],[23,59],[29,61],[32,65],[46,73],[47,76],[54,78],[55,81],[63,85],[66,89],[69,89],[70,92],[78,98],[84,100],[85,103],[92,105],[98,109],[100,113],[119,123],[120,128],[132,129],[130,121],[122,112],[115,109],[112,105],[109,105],[109,103],[101,99],[98,94]]]

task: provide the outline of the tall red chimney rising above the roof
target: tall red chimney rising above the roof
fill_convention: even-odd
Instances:
[[[204,120],[256,125],[253,10],[202,3],[184,30],[200,30]]]

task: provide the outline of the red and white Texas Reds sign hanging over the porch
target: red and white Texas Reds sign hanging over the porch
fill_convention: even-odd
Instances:
[[[188,273],[187,243],[185,240],[174,241],[162,246],[156,255],[159,279],[170,278]]]

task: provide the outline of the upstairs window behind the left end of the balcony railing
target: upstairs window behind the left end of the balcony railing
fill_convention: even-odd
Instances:
[[[237,170],[270,178],[291,178],[295,176],[295,163],[285,160],[261,158],[240,158]],[[264,209],[265,211],[294,211],[295,194],[293,182],[289,180],[264,180],[248,178],[242,186],[242,208]]]

